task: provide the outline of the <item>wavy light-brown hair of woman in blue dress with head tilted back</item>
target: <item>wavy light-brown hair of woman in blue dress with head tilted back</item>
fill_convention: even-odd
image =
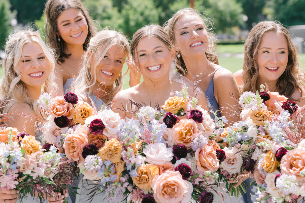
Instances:
[[[209,61],[211,61],[212,63],[219,65],[218,58],[216,55],[216,49],[215,49],[216,37],[211,32],[212,27],[213,27],[213,22],[210,19],[204,17],[202,15],[202,13],[200,11],[197,11],[196,9],[192,9],[192,8],[181,9],[177,13],[175,13],[173,15],[173,17],[171,17],[167,22],[164,23],[164,25],[163,25],[164,30],[167,32],[167,35],[170,37],[171,42],[173,44],[175,44],[175,42],[176,42],[175,26],[176,26],[178,20],[182,16],[185,16],[185,15],[195,15],[202,19],[204,29],[206,29],[206,32],[208,35],[208,40],[209,40],[209,47],[208,47],[208,50],[206,51],[206,58]],[[210,27],[210,29],[208,29],[208,26]],[[185,75],[185,73],[188,71],[188,69],[186,68],[186,65],[184,63],[182,56],[178,57],[178,52],[175,53],[175,59],[177,61],[176,68],[177,68],[178,72],[181,73],[182,75]]]

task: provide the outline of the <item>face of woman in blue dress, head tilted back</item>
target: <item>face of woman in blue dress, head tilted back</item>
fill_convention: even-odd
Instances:
[[[205,55],[209,40],[199,16],[186,14],[180,17],[175,25],[175,45],[182,57]]]

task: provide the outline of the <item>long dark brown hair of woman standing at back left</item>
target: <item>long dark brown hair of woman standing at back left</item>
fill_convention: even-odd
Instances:
[[[64,40],[58,41],[59,36],[56,34],[56,32],[58,32],[57,19],[63,11],[70,8],[81,11],[87,21],[88,35],[83,44],[84,50],[87,49],[90,38],[96,33],[96,28],[93,26],[93,21],[89,12],[80,0],[49,0],[45,4],[46,18],[44,29],[47,36],[47,42],[51,44],[53,49],[55,49],[56,55],[58,56],[57,60],[61,63],[65,62],[64,58],[68,58],[71,54],[67,54],[64,51],[66,48],[66,42]]]

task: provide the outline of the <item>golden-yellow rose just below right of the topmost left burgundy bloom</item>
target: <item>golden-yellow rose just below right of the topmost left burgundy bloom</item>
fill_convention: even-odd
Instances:
[[[73,115],[73,122],[84,125],[86,118],[92,115],[93,115],[92,107],[84,101],[78,101],[77,106],[75,107],[75,113]]]

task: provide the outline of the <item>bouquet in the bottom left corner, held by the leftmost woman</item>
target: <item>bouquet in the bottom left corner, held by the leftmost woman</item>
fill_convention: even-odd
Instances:
[[[0,137],[2,190],[20,190],[21,202],[27,194],[42,201],[46,194],[52,195],[68,184],[59,181],[58,173],[62,174],[68,163],[54,145],[42,147],[34,136],[10,127],[2,128]]]

